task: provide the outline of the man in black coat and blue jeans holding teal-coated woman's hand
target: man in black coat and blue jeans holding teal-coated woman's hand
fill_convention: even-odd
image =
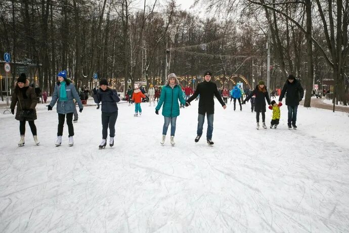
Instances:
[[[204,73],[204,81],[200,83],[195,90],[194,95],[192,95],[186,102],[186,106],[193,101],[199,94],[199,117],[198,117],[198,128],[197,136],[195,142],[200,140],[202,135],[202,128],[205,121],[205,114],[207,114],[207,134],[206,139],[209,145],[213,145],[212,142],[212,132],[213,132],[213,114],[214,114],[214,100],[213,95],[222,104],[223,108],[226,109],[226,104],[224,103],[220,93],[218,92],[217,85],[211,82],[211,72],[207,71]]]

